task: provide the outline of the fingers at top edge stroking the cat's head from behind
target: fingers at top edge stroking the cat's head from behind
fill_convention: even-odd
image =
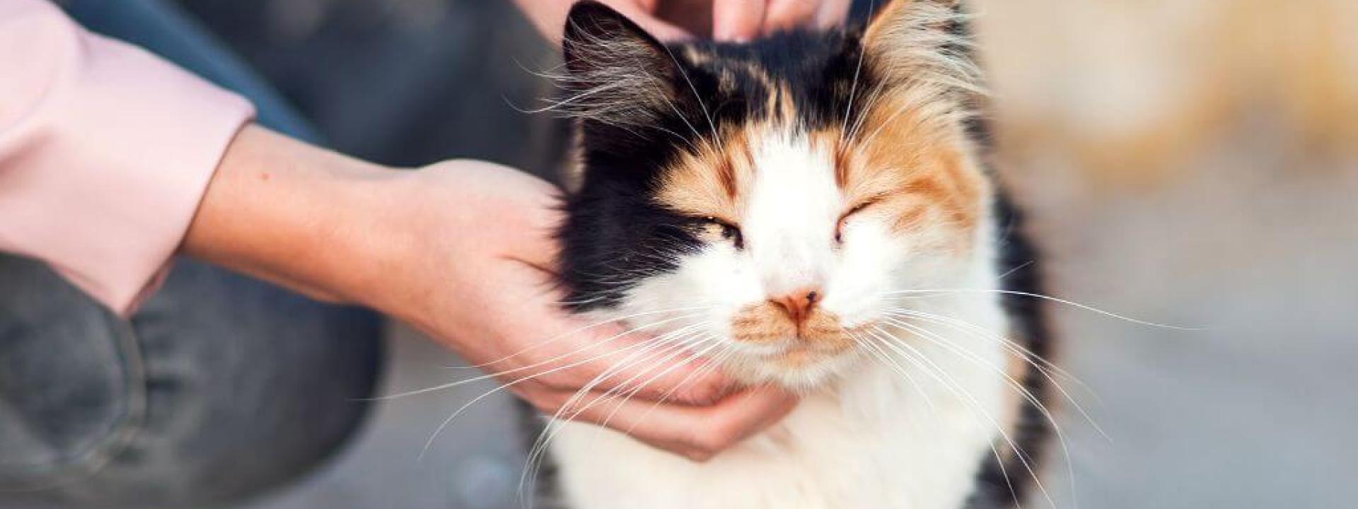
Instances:
[[[561,42],[577,0],[516,0],[547,39]],[[746,42],[796,27],[843,23],[851,0],[599,0],[661,41],[694,37]]]

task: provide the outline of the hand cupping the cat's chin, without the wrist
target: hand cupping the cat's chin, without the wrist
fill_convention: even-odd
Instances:
[[[721,375],[702,362],[679,362],[690,353],[617,323],[591,326],[564,314],[551,281],[557,193],[482,162],[411,172],[398,194],[413,214],[399,221],[425,240],[407,258],[416,292],[391,308],[500,373],[538,410],[606,425],[691,459],[710,457],[792,410],[794,400],[782,391],[728,396]]]

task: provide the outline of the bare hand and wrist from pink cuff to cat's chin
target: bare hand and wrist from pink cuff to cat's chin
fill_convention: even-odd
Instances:
[[[708,459],[792,410],[789,394],[727,394],[728,381],[701,361],[675,362],[687,353],[655,354],[655,338],[612,323],[589,327],[561,311],[551,285],[554,194],[546,182],[489,163],[392,171],[246,128],[183,250],[378,308],[543,413],[690,459]],[[611,396],[619,394],[627,398]]]

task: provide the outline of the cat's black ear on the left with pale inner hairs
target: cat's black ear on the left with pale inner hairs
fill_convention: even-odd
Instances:
[[[675,100],[678,62],[650,34],[612,8],[576,3],[562,39],[569,94],[561,109],[614,126],[655,121]]]

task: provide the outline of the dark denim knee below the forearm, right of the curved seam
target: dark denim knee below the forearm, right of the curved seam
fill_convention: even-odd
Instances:
[[[27,498],[65,506],[198,506],[287,485],[360,428],[380,323],[208,267],[171,276],[132,324],[140,402],[117,448],[53,470]],[[194,296],[194,299],[187,299]],[[12,498],[0,494],[0,499]],[[3,506],[3,504],[0,504]]]

